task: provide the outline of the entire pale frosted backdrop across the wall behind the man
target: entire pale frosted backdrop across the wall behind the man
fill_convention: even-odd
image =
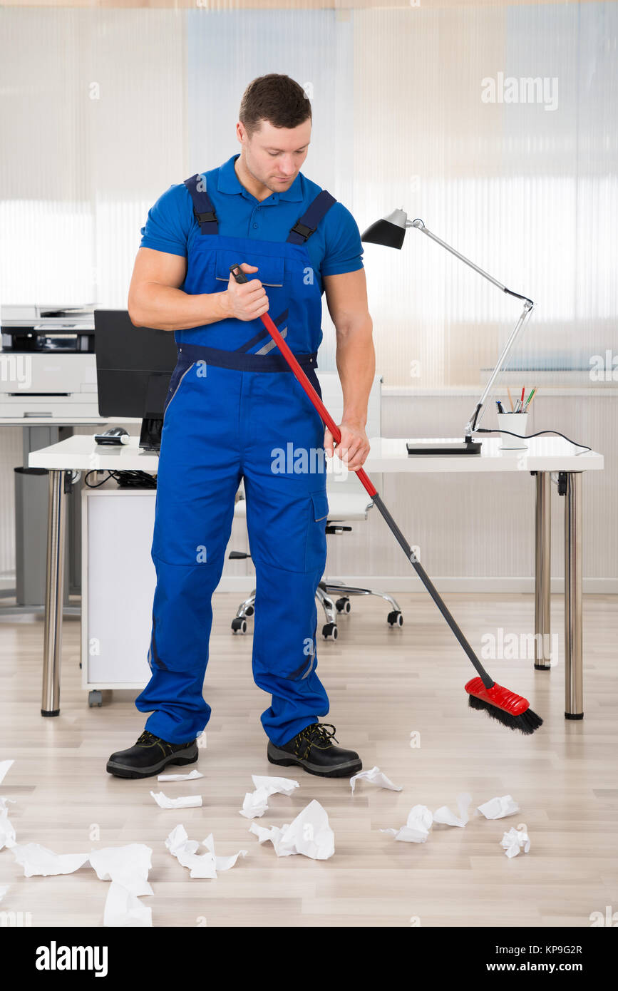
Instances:
[[[515,368],[613,354],[616,3],[170,8],[3,8],[1,299],[124,305],[154,198],[233,154],[245,85],[281,71],[361,230],[403,206],[535,300]],[[415,231],[365,266],[385,385],[478,385],[516,303]]]

